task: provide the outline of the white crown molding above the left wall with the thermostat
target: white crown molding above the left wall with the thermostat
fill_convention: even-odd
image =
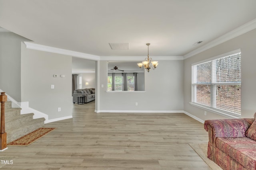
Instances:
[[[100,60],[100,56],[97,56],[97,55],[80,53],[80,52],[70,51],[70,50],[65,50],[65,49],[59,49],[59,48],[50,47],[50,46],[46,46],[46,45],[30,43],[27,41],[24,41],[24,43],[25,43],[27,49],[34,49],[34,50],[46,51],[46,52],[50,52],[50,53],[70,55],[72,57],[79,57],[79,58],[83,58],[83,59],[90,59],[90,60],[96,60],[96,61]]]

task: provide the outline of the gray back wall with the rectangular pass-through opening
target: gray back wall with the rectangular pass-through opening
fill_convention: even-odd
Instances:
[[[183,110],[183,61],[159,61],[145,72],[145,92],[106,92],[107,61],[100,61],[99,83],[100,110]]]

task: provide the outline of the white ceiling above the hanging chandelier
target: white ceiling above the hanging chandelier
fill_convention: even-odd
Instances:
[[[98,56],[183,56],[256,18],[256,0],[1,0],[0,27]],[[194,46],[197,41],[204,41]],[[109,43],[129,43],[112,50]]]

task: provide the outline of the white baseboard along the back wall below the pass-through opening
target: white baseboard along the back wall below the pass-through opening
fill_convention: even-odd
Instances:
[[[95,110],[96,113],[183,113],[183,110]]]

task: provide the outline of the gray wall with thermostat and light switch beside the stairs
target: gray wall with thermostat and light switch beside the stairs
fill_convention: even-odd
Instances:
[[[58,77],[54,78],[54,74]],[[47,114],[48,119],[72,115],[72,57],[26,49],[22,43],[21,89],[22,102],[29,102],[31,108]]]

